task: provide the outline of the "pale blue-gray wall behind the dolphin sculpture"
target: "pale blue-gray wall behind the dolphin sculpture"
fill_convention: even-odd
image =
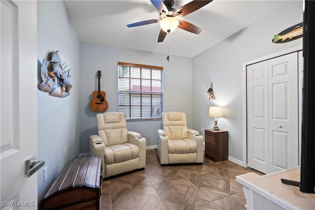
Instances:
[[[37,90],[37,157],[45,160],[38,171],[38,201],[61,172],[64,164],[79,154],[79,39],[63,1],[37,1],[37,60],[40,65],[49,51],[59,50],[59,56],[70,68],[73,85],[65,98],[50,96]],[[32,123],[32,122],[30,122]],[[63,149],[67,148],[64,157]],[[47,167],[47,179],[43,169]]]

